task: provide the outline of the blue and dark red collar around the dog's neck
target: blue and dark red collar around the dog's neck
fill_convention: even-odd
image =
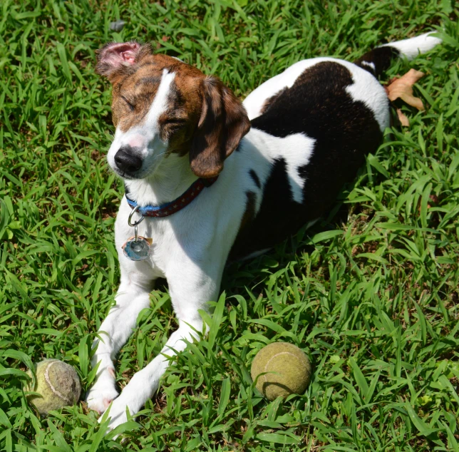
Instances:
[[[194,200],[195,197],[197,197],[197,195],[202,192],[202,189],[210,187],[210,185],[215,183],[217,178],[218,176],[215,176],[215,178],[200,178],[195,180],[195,182],[190,185],[190,188],[182,193],[182,195],[177,197],[175,200],[167,202],[167,204],[163,205],[145,205],[144,207],[140,207],[137,202],[130,199],[128,196],[129,189],[126,186],[124,187],[125,197],[128,201],[128,204],[130,205],[130,208],[135,209],[135,207],[137,207],[136,211],[143,217],[168,217],[169,215],[172,215],[172,213],[178,212],[179,210],[182,210],[183,207],[186,207],[188,204],[190,204],[190,202],[192,202],[192,200]]]

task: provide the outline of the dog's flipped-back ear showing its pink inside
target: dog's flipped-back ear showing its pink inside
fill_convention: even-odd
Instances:
[[[149,44],[138,42],[108,43],[97,51],[96,72],[113,82],[118,73],[138,63],[151,53]]]

